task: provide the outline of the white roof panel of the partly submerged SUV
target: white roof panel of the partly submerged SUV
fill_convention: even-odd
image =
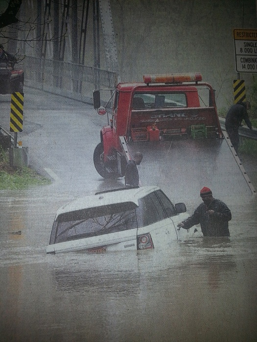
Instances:
[[[70,213],[77,210],[89,209],[95,207],[102,207],[105,205],[133,202],[139,205],[139,198],[147,194],[159,190],[159,187],[148,186],[134,189],[121,189],[120,191],[99,192],[95,195],[83,196],[75,199],[74,201],[64,205],[58,209],[56,217],[59,214]]]

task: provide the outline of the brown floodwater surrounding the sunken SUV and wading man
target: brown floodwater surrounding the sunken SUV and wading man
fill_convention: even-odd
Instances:
[[[230,238],[46,255],[73,199],[47,189],[0,192],[0,341],[257,341],[257,196],[227,199]]]

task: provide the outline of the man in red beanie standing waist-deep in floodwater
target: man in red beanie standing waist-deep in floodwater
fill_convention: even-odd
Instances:
[[[219,199],[213,198],[211,190],[207,187],[201,189],[200,196],[204,203],[177,227],[189,229],[200,223],[204,236],[230,236],[229,221],[232,216],[229,208]]]

